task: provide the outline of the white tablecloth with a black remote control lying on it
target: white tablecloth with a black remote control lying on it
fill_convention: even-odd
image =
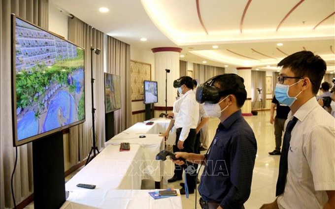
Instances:
[[[78,183],[94,184],[97,191],[141,189],[141,176],[138,174],[144,167],[137,163],[137,160],[142,159],[140,145],[132,145],[130,151],[119,151],[119,147],[105,147],[87,166],[67,181],[66,190],[70,193],[78,190]]]

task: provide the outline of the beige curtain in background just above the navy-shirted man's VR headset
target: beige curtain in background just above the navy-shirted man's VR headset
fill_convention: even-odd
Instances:
[[[204,83],[211,77],[225,73],[224,67],[215,67],[203,64],[193,64],[193,79],[198,79],[199,84]]]

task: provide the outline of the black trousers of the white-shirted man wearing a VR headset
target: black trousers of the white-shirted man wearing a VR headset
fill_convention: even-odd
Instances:
[[[184,149],[178,149],[178,141],[180,136],[181,128],[176,129],[176,142],[173,146],[173,152],[176,151],[184,151],[189,153],[195,153],[195,144],[196,144],[196,129],[190,129],[190,132],[184,141]],[[199,146],[199,145],[198,145]],[[186,172],[186,182],[189,191],[193,191],[196,188],[196,174],[197,174],[197,167],[195,167],[194,163],[187,162],[182,166],[174,164],[174,176],[178,178],[182,178],[183,170]]]

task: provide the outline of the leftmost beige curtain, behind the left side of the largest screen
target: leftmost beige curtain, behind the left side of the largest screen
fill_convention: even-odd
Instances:
[[[10,179],[15,163],[11,119],[10,13],[48,29],[48,0],[0,1],[0,209],[12,208]],[[32,145],[18,147],[14,194],[20,203],[33,192]]]

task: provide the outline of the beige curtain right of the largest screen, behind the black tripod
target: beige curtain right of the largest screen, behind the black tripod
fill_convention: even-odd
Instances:
[[[89,25],[77,18],[68,19],[68,39],[80,47],[85,48],[85,119],[82,124],[70,128],[68,146],[69,167],[84,160],[92,147],[92,92],[91,92],[91,46],[99,48],[100,55],[92,53],[93,78],[95,79],[94,108],[96,146],[98,149],[104,147],[104,91],[103,91],[103,37],[99,30],[92,29]],[[92,156],[92,155],[91,155]]]

